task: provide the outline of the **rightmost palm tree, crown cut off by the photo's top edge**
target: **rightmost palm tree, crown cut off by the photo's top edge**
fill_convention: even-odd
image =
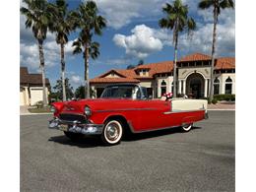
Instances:
[[[221,9],[234,8],[232,0],[201,0],[198,4],[200,9],[214,8],[214,32],[212,44],[212,64],[211,64],[211,83],[210,83],[210,96],[209,100],[212,102],[214,96],[214,68],[215,68],[215,47],[216,47],[216,34],[218,17],[221,14]]]

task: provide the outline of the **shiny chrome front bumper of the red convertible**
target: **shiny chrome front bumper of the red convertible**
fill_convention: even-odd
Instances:
[[[103,125],[94,123],[82,124],[79,121],[66,121],[55,117],[49,121],[48,128],[84,135],[97,135],[102,133]]]

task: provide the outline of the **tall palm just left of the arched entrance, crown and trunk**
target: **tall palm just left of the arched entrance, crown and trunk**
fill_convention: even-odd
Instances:
[[[183,5],[181,0],[175,0],[173,5],[168,3],[162,8],[162,12],[166,14],[165,18],[160,19],[160,28],[173,31],[174,43],[174,65],[173,65],[173,97],[177,96],[176,81],[177,81],[177,46],[179,32],[191,31],[196,29],[196,23],[192,18],[188,17],[188,6]]]

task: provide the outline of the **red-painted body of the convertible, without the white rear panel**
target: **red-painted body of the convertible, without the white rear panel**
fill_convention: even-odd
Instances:
[[[70,120],[68,123],[65,123],[75,126],[74,120],[76,119],[74,118],[76,118],[76,115],[78,117],[82,116],[88,124],[93,127],[96,126],[96,129],[97,126],[100,127],[96,134],[102,134],[104,126],[109,119],[121,120],[121,123],[127,125],[126,128],[132,133],[140,133],[191,125],[196,121],[205,119],[207,115],[204,107],[196,110],[174,111],[172,109],[172,100],[160,99],[95,98],[54,102],[52,105],[55,108],[54,119],[61,121],[63,114],[72,115],[75,116],[73,119],[64,120]],[[85,114],[85,107],[91,109],[90,115]],[[57,128],[59,128],[59,124]],[[85,128],[85,124],[80,126],[80,128],[83,129],[83,126]],[[56,128],[56,126],[51,126],[50,128]],[[64,131],[68,131],[68,129]],[[91,133],[85,132],[84,134]]]

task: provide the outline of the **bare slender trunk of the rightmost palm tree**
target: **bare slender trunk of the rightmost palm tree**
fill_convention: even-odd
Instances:
[[[210,94],[209,99],[212,102],[214,97],[214,70],[215,70],[215,47],[216,47],[216,28],[218,22],[217,7],[214,8],[214,32],[213,32],[213,44],[212,44],[212,64],[211,64],[211,81],[210,81]]]

